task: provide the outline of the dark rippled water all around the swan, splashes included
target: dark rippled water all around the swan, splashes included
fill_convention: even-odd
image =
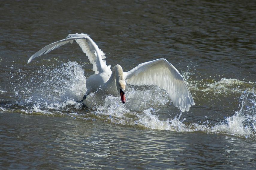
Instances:
[[[1,1],[1,169],[254,169],[256,4],[253,1]],[[154,86],[87,98],[87,33],[107,64],[128,71],[166,58],[195,106],[181,113]]]

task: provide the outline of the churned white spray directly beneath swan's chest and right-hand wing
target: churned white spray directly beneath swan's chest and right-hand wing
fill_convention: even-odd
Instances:
[[[93,108],[94,114],[100,118],[107,117],[111,123],[139,124],[138,115],[144,114],[148,108],[159,110],[170,104],[168,95],[162,89],[154,86],[140,88],[128,87],[125,104],[121,103],[119,96],[98,96],[97,93],[90,94],[84,103]]]

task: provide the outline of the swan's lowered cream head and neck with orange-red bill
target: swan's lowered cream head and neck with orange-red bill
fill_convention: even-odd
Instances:
[[[114,67],[115,73],[116,73],[116,88],[117,91],[120,92],[121,101],[122,103],[125,103],[125,79],[123,75],[123,69],[120,65],[116,65]]]

